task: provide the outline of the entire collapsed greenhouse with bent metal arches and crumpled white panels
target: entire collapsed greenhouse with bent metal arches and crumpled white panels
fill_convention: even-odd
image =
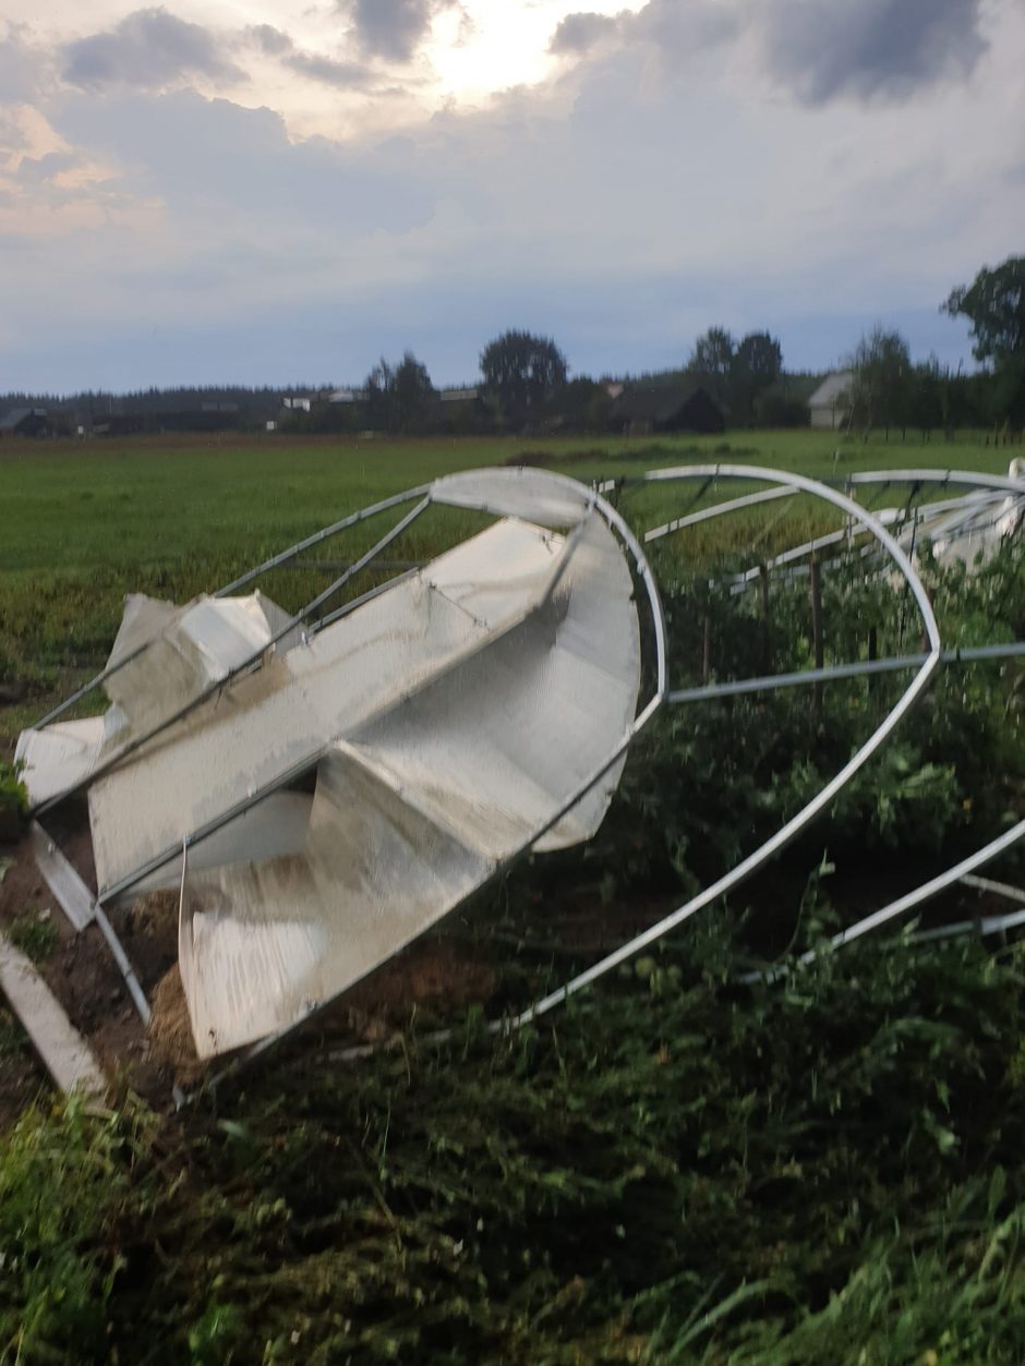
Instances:
[[[231,1055],[238,1064],[372,984],[522,856],[592,840],[627,751],[663,709],[910,673],[875,729],[769,839],[493,1027],[526,1023],[774,859],[886,744],[935,671],[1025,654],[1021,641],[947,645],[920,574],[922,556],[976,564],[1017,537],[1022,473],[1014,462],[1006,478],[887,470],[825,484],[712,463],[588,486],[540,469],[477,470],[353,514],[210,597],[174,605],[131,596],[102,672],[18,744],[41,872],[78,930],[101,929],[144,1022],[150,1001],[112,912],[144,895],[174,895],[195,1055]],[[708,490],[727,481],[758,488],[704,505]],[[694,490],[690,511],[653,526],[630,511],[634,493],[678,485]],[[858,501],[892,486],[912,490],[901,505],[873,512]],[[827,664],[813,623],[808,667],[726,680],[705,669],[682,686],[670,671],[674,623],[651,548],[709,519],[798,496],[821,500],[840,526],[735,572],[728,591],[767,596],[769,586],[806,578],[815,616],[823,574],[856,563],[917,611],[922,649]],[[484,525],[465,535],[461,523],[441,555],[336,605],[432,508]],[[395,512],[399,519],[298,612],[254,587],[312,546]],[[97,688],[109,702],[101,716],[64,719]],[[82,798],[92,850],[85,870],[64,856],[52,825]],[[974,877],[1022,833],[1025,821],[1015,821],[845,926],[835,945]],[[1000,928],[1020,918],[999,917]]]

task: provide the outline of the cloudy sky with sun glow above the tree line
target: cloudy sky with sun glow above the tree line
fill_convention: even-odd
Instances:
[[[0,0],[0,392],[790,367],[1025,250],[1025,0]]]

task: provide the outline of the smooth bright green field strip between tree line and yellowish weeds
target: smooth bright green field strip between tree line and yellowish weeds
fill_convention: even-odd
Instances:
[[[653,447],[657,454],[645,460]],[[262,549],[288,545],[377,499],[521,452],[549,452],[581,479],[716,458],[813,477],[899,464],[1004,473],[1009,459],[974,434],[843,443],[812,430],[620,440],[20,444],[0,447],[0,574],[148,566],[189,556],[251,563]],[[581,452],[594,455],[571,459]]]

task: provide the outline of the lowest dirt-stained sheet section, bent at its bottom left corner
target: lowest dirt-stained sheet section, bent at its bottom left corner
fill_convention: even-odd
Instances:
[[[488,876],[351,755],[321,761],[302,854],[189,870],[182,984],[201,1057],[302,1019]]]

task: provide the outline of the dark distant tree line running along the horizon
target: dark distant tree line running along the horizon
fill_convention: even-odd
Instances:
[[[931,357],[914,363],[907,342],[876,326],[847,359],[851,381],[843,398],[849,430],[992,428],[1007,436],[1025,426],[1025,257],[984,268],[970,285],[942,305],[970,322],[980,369],[951,373]],[[264,429],[297,432],[384,432],[396,436],[488,432],[601,433],[626,430],[623,406],[631,392],[685,395],[704,391],[730,426],[797,426],[808,422],[808,399],[821,376],[787,374],[778,337],[749,332],[739,340],[712,326],[676,370],[640,377],[570,378],[566,355],[547,336],[508,331],[480,355],[480,384],[439,392],[411,351],[381,358],[358,389],[331,385],[249,388],[204,385],[150,388],[70,398],[7,393],[0,415],[18,407],[45,408],[51,432]],[[618,425],[616,425],[618,423]]]

